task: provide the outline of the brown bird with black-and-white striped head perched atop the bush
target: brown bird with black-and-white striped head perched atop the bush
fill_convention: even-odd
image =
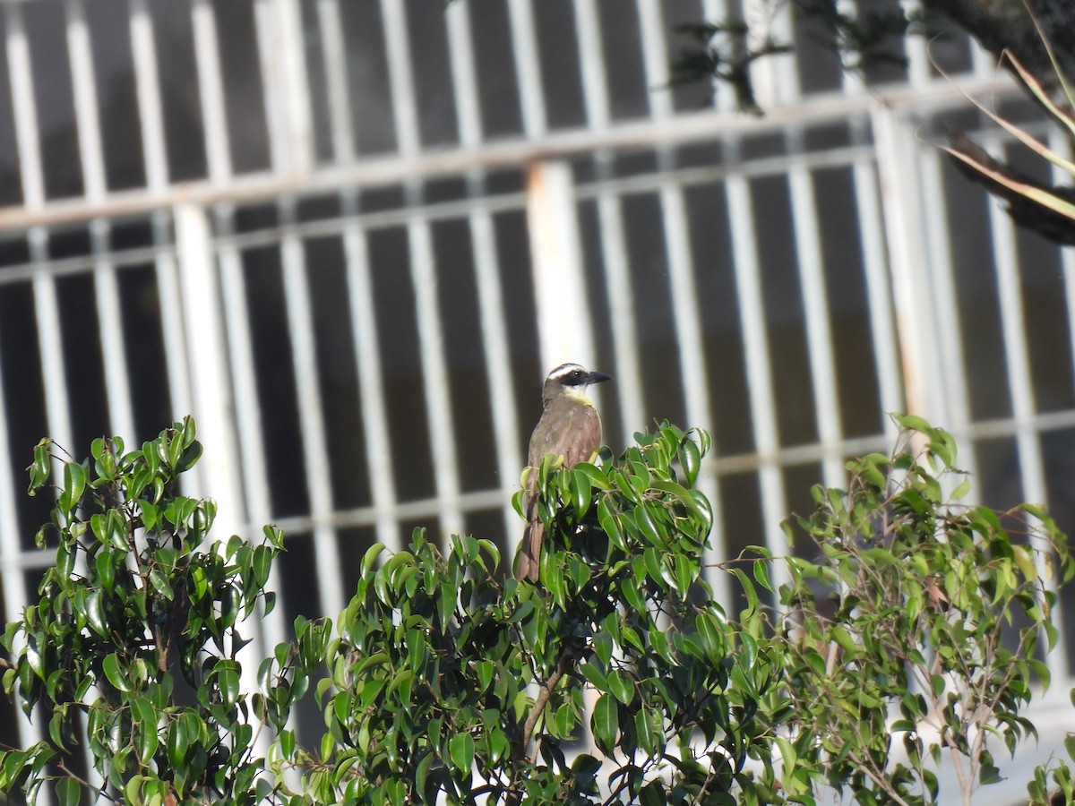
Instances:
[[[560,364],[542,386],[542,414],[530,435],[526,480],[527,526],[519,549],[517,579],[538,581],[541,542],[545,524],[538,516],[538,467],[546,456],[563,458],[563,466],[591,462],[601,447],[601,417],[586,397],[586,387],[612,380],[603,372],[590,372],[574,363]]]

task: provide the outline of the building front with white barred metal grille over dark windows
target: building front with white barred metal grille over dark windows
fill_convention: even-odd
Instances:
[[[220,532],[289,535],[268,645],[342,609],[374,541],[511,556],[541,382],[568,360],[613,375],[615,450],[655,420],[713,433],[715,562],[784,551],[780,520],[888,449],[897,411],[955,432],[986,503],[1075,529],[1073,255],[936,147],[957,126],[1014,154],[963,92],[1024,102],[958,35],[858,75],[786,17],[763,115],[671,85],[679,26],[737,11],[0,2],[4,620],[49,562],[38,440],[82,454],[188,413],[188,492]]]

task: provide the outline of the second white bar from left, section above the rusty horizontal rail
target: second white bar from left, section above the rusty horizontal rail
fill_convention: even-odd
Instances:
[[[67,41],[71,60],[71,86],[74,91],[75,119],[78,130],[78,156],[86,200],[100,201],[106,191],[104,152],[101,148],[101,121],[98,114],[97,85],[94,81],[94,55],[86,27],[83,0],[64,0]]]

